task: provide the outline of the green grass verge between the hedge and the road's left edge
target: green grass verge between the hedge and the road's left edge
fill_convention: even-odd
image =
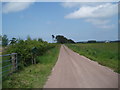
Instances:
[[[42,88],[59,55],[60,45],[39,56],[36,65],[24,68],[3,80],[3,88]]]

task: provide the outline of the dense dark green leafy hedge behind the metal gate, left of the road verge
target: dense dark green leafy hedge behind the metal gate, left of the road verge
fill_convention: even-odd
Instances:
[[[35,52],[32,51],[36,48]],[[43,55],[48,49],[55,47],[55,44],[50,44],[45,41],[37,40],[18,40],[14,45],[9,45],[5,53],[17,53],[19,68],[33,64],[33,59]]]

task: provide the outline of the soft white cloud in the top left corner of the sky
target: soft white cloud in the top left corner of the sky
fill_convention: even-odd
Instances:
[[[19,1],[19,0],[18,0]],[[3,13],[18,12],[27,9],[35,0],[28,2],[7,2],[3,5]],[[32,2],[31,2],[32,1]]]

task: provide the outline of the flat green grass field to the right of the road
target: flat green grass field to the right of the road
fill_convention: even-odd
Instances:
[[[118,68],[118,43],[67,44],[67,46],[73,51],[120,73],[120,68]]]

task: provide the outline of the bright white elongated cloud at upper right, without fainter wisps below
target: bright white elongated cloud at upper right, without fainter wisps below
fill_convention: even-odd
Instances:
[[[107,18],[117,13],[117,4],[106,3],[98,6],[83,6],[68,14],[65,18]]]

